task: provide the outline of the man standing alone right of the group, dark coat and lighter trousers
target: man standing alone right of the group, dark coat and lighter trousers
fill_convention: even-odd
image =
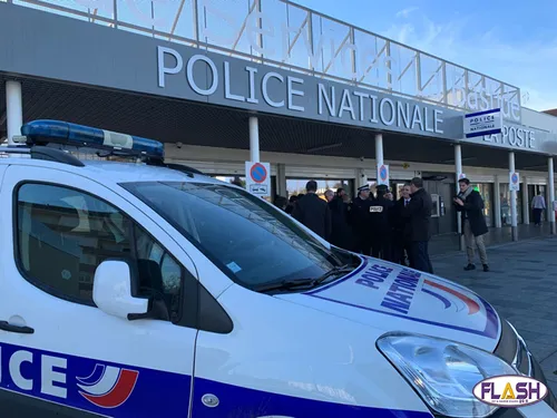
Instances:
[[[478,246],[483,271],[489,271],[486,244],[483,235],[488,233],[486,217],[483,216],[483,200],[481,195],[470,186],[468,178],[458,181],[460,193],[455,197],[455,206],[460,212],[462,221],[462,233],[465,234],[466,250],[468,255],[468,265],[465,270],[473,270],[473,244]]]

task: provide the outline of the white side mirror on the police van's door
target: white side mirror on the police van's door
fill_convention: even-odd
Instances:
[[[95,304],[109,315],[131,320],[149,311],[149,300],[131,295],[131,270],[125,261],[106,260],[95,271]]]

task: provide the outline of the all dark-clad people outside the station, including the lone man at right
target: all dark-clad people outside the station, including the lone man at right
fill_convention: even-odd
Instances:
[[[477,246],[483,270],[488,271],[482,239],[487,233],[483,201],[467,178],[459,181],[459,186],[453,205],[461,214],[467,243],[465,269],[475,269]],[[364,185],[358,188],[353,200],[343,188],[328,189],[326,202],[316,192],[317,183],[310,181],[304,195],[290,202],[283,198],[275,204],[335,246],[433,273],[429,257],[433,203],[423,188],[422,178],[414,177],[404,184],[399,200],[394,200],[384,185],[377,187],[375,195]]]

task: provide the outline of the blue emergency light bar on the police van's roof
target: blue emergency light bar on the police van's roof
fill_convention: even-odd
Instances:
[[[21,127],[28,144],[52,143],[164,158],[163,143],[61,120],[33,120]],[[16,138],[14,138],[16,140]]]

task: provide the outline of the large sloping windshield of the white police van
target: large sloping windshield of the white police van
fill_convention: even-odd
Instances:
[[[329,250],[285,213],[221,184],[121,184],[195,244],[232,280],[248,288],[316,279],[359,260]]]

